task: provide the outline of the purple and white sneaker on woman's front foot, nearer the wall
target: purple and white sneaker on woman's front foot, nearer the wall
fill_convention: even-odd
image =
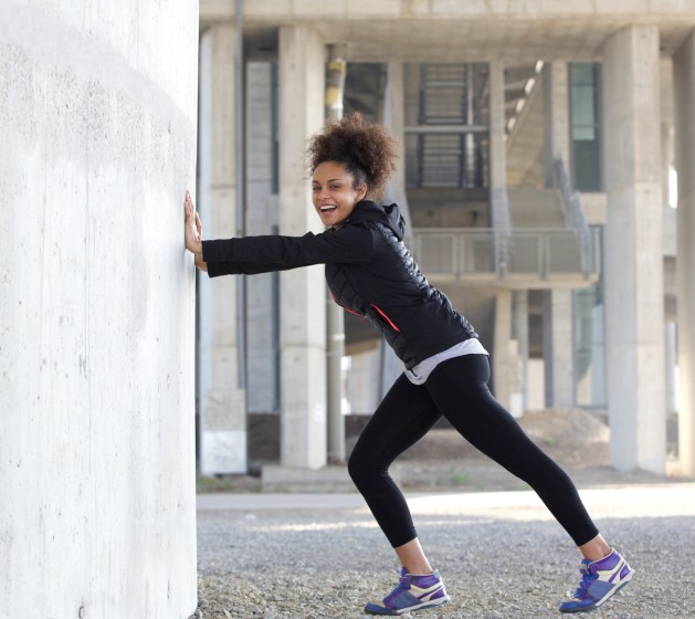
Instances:
[[[369,602],[365,607],[365,612],[369,615],[402,615],[410,610],[446,604],[449,599],[438,570],[432,574],[419,575],[408,574],[406,568],[402,568],[400,583],[383,598],[383,602]]]

